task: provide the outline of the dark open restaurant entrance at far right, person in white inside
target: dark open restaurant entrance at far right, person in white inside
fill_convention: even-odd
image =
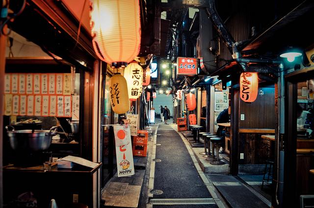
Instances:
[[[314,73],[313,69],[303,69],[297,76],[295,74],[286,76],[284,202],[292,207],[299,206],[301,195],[314,194]]]

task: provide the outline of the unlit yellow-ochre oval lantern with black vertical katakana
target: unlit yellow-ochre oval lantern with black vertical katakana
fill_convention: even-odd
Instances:
[[[125,114],[130,109],[128,86],[121,74],[113,75],[109,80],[111,108],[116,114]]]

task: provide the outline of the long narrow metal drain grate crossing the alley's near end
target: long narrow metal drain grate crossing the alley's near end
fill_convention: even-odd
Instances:
[[[213,198],[200,199],[150,199],[152,205],[214,205]]]

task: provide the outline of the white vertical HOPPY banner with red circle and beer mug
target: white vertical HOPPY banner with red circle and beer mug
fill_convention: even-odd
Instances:
[[[134,175],[130,127],[125,125],[113,126],[118,177]]]

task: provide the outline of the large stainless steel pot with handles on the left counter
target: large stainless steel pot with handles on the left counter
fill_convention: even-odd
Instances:
[[[12,131],[9,131],[9,127]],[[15,130],[13,126],[5,126],[10,145],[14,150],[39,151],[50,147],[52,136],[57,134],[57,126],[50,130]]]

